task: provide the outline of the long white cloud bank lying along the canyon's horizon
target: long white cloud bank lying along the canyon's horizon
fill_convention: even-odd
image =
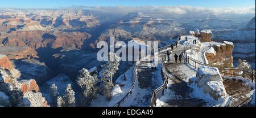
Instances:
[[[76,6],[75,8],[119,14],[126,14],[128,12],[155,14],[255,14],[255,6],[243,8],[204,8],[192,6]]]

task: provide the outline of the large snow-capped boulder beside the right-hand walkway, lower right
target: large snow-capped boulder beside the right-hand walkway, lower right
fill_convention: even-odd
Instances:
[[[226,93],[225,86],[220,72],[217,68],[201,66],[197,69],[196,77],[189,78],[189,86],[202,88],[205,95],[216,100],[220,106],[226,106],[229,95]]]

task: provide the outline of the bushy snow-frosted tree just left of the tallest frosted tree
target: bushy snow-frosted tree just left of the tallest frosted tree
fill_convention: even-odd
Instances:
[[[77,76],[77,84],[82,89],[82,93],[79,98],[79,106],[89,106],[94,98],[97,97],[97,76],[90,76],[87,69],[82,68]]]

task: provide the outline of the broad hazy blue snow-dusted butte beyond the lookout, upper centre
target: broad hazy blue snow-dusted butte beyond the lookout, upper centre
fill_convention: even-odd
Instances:
[[[139,14],[129,15],[128,19],[120,20],[102,32],[90,46],[96,47],[97,42],[108,41],[111,36],[117,41],[129,41],[134,37],[146,41],[170,41],[177,34],[185,33],[185,29],[180,26],[181,24],[174,20],[150,18]]]

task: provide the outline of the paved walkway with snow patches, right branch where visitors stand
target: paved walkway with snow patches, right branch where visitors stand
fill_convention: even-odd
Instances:
[[[191,66],[181,63],[175,63],[174,55],[180,55],[187,50],[188,47],[179,45],[170,55],[170,62],[166,62],[167,72],[171,79],[168,80],[167,90],[164,91],[166,98],[163,106],[170,107],[189,107],[189,106],[205,106],[207,102],[203,99],[194,98],[192,89],[187,85],[188,77],[195,76],[196,69]],[[184,60],[184,58],[183,58]]]

